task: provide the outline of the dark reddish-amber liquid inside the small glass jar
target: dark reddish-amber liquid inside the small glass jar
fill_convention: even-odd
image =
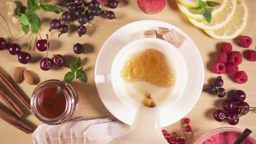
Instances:
[[[49,87],[39,93],[38,110],[46,118],[58,118],[66,110],[66,97],[61,93],[59,98],[53,98],[57,88]]]

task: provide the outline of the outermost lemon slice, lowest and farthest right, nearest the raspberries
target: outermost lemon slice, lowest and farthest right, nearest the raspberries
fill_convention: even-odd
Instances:
[[[234,39],[245,29],[248,20],[248,8],[244,0],[237,0],[236,12],[229,23],[217,30],[205,30],[214,39]]]

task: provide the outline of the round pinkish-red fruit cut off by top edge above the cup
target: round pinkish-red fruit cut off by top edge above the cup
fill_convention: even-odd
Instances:
[[[137,0],[139,8],[146,14],[155,14],[161,12],[166,0]]]

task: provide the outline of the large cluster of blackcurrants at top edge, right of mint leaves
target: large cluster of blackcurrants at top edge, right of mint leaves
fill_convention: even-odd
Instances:
[[[68,11],[64,10],[62,13],[62,20],[66,22],[66,24],[61,24],[60,18],[53,19],[50,22],[50,29],[59,29],[59,35],[61,36],[63,33],[67,33],[69,30],[69,22],[72,20],[78,20],[79,26],[77,26],[78,36],[81,37],[87,31],[84,26],[86,23],[90,23],[95,26],[91,21],[94,19],[94,16],[100,16],[103,13],[109,20],[115,19],[115,13],[111,10],[105,11],[103,10],[103,3],[105,3],[109,8],[115,9],[118,7],[118,3],[120,1],[117,0],[91,0],[90,2],[85,2],[85,0],[64,0],[66,3],[65,7]],[[100,7],[102,6],[102,7]]]

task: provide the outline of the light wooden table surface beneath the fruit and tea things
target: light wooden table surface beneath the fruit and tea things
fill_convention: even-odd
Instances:
[[[2,3],[0,5],[0,15],[1,19],[7,23],[8,29],[10,29],[10,33],[13,36],[13,39],[17,39],[24,35],[21,25],[15,25],[11,21],[11,17],[7,16],[7,11],[9,7],[6,5],[7,0],[0,0]],[[26,6],[25,0],[16,0],[15,1],[18,6],[23,5]],[[50,2],[51,4],[60,4],[63,3],[63,0],[53,0]],[[42,26],[40,29],[40,34],[45,39],[46,33],[49,34],[49,42],[50,48],[48,52],[48,56],[52,56],[53,54],[62,54],[66,57],[67,64],[74,63],[75,59],[79,56],[82,59],[82,67],[84,68],[84,72],[88,76],[88,82],[82,83],[78,79],[73,80],[71,85],[73,85],[80,97],[80,105],[77,113],[74,118],[85,117],[85,118],[105,118],[111,117],[113,120],[117,120],[103,105],[96,86],[94,82],[94,70],[95,70],[95,62],[98,56],[98,52],[100,51],[102,45],[105,43],[106,39],[111,36],[117,29],[121,26],[124,26],[128,23],[135,22],[138,20],[161,20],[167,23],[170,23],[178,28],[182,29],[188,36],[194,41],[197,48],[200,51],[200,54],[203,59],[204,66],[204,84],[205,88],[209,84],[213,84],[213,80],[217,78],[217,74],[213,72],[213,63],[217,61],[217,54],[220,52],[220,45],[224,42],[229,42],[233,45],[233,50],[240,51],[243,56],[245,56],[246,51],[249,49],[256,48],[256,17],[254,14],[256,13],[256,3],[254,0],[246,0],[246,4],[249,9],[249,18],[248,23],[244,31],[240,34],[240,36],[250,36],[253,39],[252,45],[248,49],[243,49],[238,45],[238,40],[240,37],[231,40],[217,40],[213,39],[204,33],[203,30],[198,29],[193,26],[187,17],[180,12],[177,7],[175,0],[167,0],[166,7],[161,13],[157,13],[154,15],[147,15],[143,13],[137,5],[136,0],[121,0],[118,8],[114,9],[116,15],[116,20],[108,20],[105,16],[98,16],[92,20],[92,23],[95,24],[97,28],[93,28],[92,25],[86,24],[87,33],[81,38],[78,37],[76,33],[76,26],[78,26],[78,22],[72,22],[69,24],[70,29],[66,34],[62,34],[58,38],[58,30],[53,30],[51,33],[48,32],[50,28],[49,23],[52,19],[59,18],[60,14],[55,14],[51,12],[44,12],[43,10],[39,10],[36,12],[40,17]],[[62,7],[61,5],[58,5]],[[105,7],[105,10],[109,10]],[[32,39],[33,33],[29,33],[23,38],[16,40],[15,43],[19,43],[22,47],[22,51],[25,51],[30,40]],[[125,38],[125,33],[124,33]],[[5,39],[9,39],[7,31],[4,29],[3,24],[0,25],[0,37],[4,37]],[[39,39],[39,35],[35,35],[32,40],[31,46],[27,52],[29,52],[32,56],[32,60],[29,64],[23,65],[20,64],[17,60],[17,56],[12,56],[8,53],[7,50],[0,51],[0,70],[7,75],[11,82],[16,85],[13,81],[13,71],[17,66],[23,68],[23,70],[28,70],[32,72],[32,74],[36,78],[36,82],[34,85],[28,85],[25,80],[16,87],[20,90],[20,92],[25,95],[26,99],[30,100],[31,94],[36,88],[36,86],[48,79],[63,79],[64,75],[69,72],[69,69],[66,67],[56,68],[53,66],[49,71],[43,71],[39,68],[39,62],[43,57],[46,57],[46,52],[39,52],[35,48],[35,42]],[[81,43],[85,46],[85,53],[81,55],[77,55],[72,51],[72,45],[75,43]],[[197,65],[197,63],[194,63]],[[243,58],[242,64],[239,65],[239,70],[243,70],[248,75],[248,82],[245,84],[237,84],[233,76],[229,76],[226,73],[222,74],[222,78],[224,80],[223,88],[227,91],[227,97],[231,97],[233,92],[237,89],[241,89],[246,92],[247,98],[246,101],[249,103],[251,107],[256,107],[256,62],[249,62],[245,57]],[[2,87],[3,84],[0,83]],[[9,92],[8,92],[9,93]],[[11,95],[11,93],[10,93]],[[222,102],[225,98],[217,98],[213,95],[207,94],[207,92],[202,92],[200,98],[198,99],[194,108],[184,117],[190,118],[190,125],[194,131],[194,137],[190,140],[190,143],[194,143],[202,134],[207,131],[210,131],[214,128],[220,128],[224,126],[231,126],[226,121],[217,122],[213,119],[213,111],[217,108],[222,108]],[[0,105],[4,108],[7,106],[0,100]],[[24,108],[25,110],[25,108]],[[178,110],[177,110],[178,111]],[[37,128],[38,125],[43,124],[33,115],[32,111],[25,110],[26,114],[24,114],[21,119],[26,121],[27,123],[33,125],[34,129]],[[170,115],[170,117],[175,117],[175,115]],[[236,128],[249,128],[253,131],[253,135],[256,136],[256,124],[255,124],[256,114],[246,115],[240,118],[239,124],[233,126]],[[182,135],[182,129],[180,128],[181,121],[177,121],[170,126],[164,127],[162,129],[166,129],[169,133],[175,131],[178,134]],[[126,125],[126,129],[129,126]],[[33,131],[34,131],[33,129]],[[0,144],[32,144],[32,136],[31,134],[25,134],[22,131],[14,128],[10,124],[7,124],[5,121],[0,119]]]

